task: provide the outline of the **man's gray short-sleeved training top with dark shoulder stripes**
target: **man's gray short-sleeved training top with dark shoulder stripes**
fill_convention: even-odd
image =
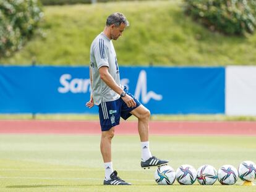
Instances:
[[[90,69],[92,70],[92,93],[94,103],[98,106],[106,101],[114,101],[120,96],[101,80],[99,69],[108,66],[108,72],[120,85],[119,68],[116,59],[116,51],[111,40],[104,34],[96,36],[90,49]]]

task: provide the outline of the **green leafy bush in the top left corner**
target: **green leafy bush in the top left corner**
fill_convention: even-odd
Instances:
[[[43,17],[36,0],[0,1],[0,57],[21,49]]]

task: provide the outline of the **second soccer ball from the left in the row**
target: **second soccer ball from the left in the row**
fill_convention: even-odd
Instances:
[[[192,185],[197,179],[197,171],[191,165],[181,165],[176,171],[176,178],[181,185]]]

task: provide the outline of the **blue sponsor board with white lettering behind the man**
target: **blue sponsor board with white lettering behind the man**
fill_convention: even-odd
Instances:
[[[119,67],[121,84],[152,114],[223,114],[223,67]],[[88,109],[88,67],[0,67],[0,113]]]

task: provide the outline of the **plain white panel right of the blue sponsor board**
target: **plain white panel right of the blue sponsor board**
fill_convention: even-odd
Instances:
[[[226,67],[226,115],[256,115],[256,67]]]

